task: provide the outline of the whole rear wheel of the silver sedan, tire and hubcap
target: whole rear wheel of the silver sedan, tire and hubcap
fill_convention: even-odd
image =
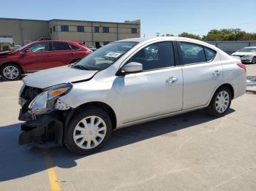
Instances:
[[[223,117],[227,114],[231,104],[231,93],[228,87],[222,86],[214,93],[207,110],[214,117]]]

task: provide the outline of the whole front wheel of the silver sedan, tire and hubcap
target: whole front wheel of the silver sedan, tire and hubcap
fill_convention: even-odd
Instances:
[[[92,120],[94,126],[91,126]],[[90,155],[106,144],[111,133],[112,122],[108,113],[98,107],[91,107],[74,114],[64,133],[64,144],[70,152]]]

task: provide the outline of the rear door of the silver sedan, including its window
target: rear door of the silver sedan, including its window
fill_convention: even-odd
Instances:
[[[184,77],[184,106],[203,106],[222,81],[222,64],[217,51],[191,42],[179,42]]]

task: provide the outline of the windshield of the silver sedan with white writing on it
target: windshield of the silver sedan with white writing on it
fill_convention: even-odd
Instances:
[[[138,42],[113,42],[83,58],[73,67],[86,70],[104,70],[115,63]]]

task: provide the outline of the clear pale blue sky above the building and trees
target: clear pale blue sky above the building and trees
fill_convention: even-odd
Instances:
[[[141,22],[141,36],[206,35],[211,29],[256,32],[256,0],[41,0],[1,1],[0,17]]]

